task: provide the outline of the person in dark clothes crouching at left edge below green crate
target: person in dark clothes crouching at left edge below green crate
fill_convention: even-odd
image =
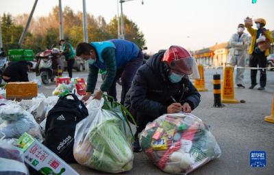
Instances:
[[[11,62],[3,71],[2,78],[5,82],[28,82],[30,65],[26,61]]]

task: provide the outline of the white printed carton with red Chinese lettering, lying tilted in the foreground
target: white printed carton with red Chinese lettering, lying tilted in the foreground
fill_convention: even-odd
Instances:
[[[25,163],[41,174],[79,175],[73,168],[49,148],[26,132],[16,142],[25,156]]]

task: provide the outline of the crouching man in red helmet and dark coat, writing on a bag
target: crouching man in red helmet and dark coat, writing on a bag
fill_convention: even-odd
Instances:
[[[138,134],[149,121],[166,113],[190,113],[199,105],[200,94],[188,80],[197,72],[195,58],[179,46],[158,52],[138,69],[125,100],[138,125],[134,152],[140,151]]]

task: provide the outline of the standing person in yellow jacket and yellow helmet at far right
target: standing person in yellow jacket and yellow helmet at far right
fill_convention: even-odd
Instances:
[[[249,48],[249,66],[257,67],[259,65],[260,68],[265,68],[267,65],[266,57],[269,56],[269,49],[261,50],[259,45],[262,40],[273,43],[273,37],[271,32],[264,28],[266,25],[266,21],[264,19],[255,19],[255,23],[257,30],[253,29],[251,26],[246,26],[247,31],[252,36],[251,45]],[[257,85],[256,75],[257,69],[251,69],[251,86],[249,89],[253,89]],[[266,69],[260,69],[260,87],[258,90],[264,90],[264,86],[266,86]]]

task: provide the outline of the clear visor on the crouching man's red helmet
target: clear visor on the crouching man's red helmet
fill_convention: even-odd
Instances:
[[[171,71],[179,75],[190,75],[192,78],[200,78],[197,63],[193,57],[173,60],[169,67]]]

